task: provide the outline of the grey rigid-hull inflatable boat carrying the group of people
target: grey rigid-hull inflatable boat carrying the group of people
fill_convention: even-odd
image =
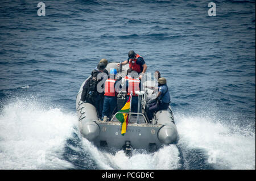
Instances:
[[[125,76],[129,65],[117,67],[118,63],[109,63],[107,70],[115,68],[119,70],[119,75]],[[96,108],[86,102],[82,102],[81,94],[82,83],[76,98],[76,110],[79,119],[79,129],[86,139],[92,141],[96,146],[108,146],[115,149],[146,149],[155,151],[162,145],[172,144],[177,141],[178,134],[174,122],[171,107],[168,110],[161,110],[154,114],[152,120],[147,119],[144,111],[148,104],[148,97],[152,90],[145,89],[141,97],[141,113],[131,112],[127,131],[124,136],[121,135],[121,122],[115,118],[117,113],[113,113],[108,120],[100,120],[97,116]],[[152,81],[146,81],[143,85],[152,85]],[[121,110],[125,104],[125,94],[118,94],[118,105],[116,112]]]

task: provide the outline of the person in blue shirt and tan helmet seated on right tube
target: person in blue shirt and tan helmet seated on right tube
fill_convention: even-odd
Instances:
[[[166,78],[161,77],[158,79],[158,95],[156,95],[156,101],[150,104],[147,113],[149,120],[152,120],[154,112],[167,110],[169,107],[171,97],[166,83]]]

